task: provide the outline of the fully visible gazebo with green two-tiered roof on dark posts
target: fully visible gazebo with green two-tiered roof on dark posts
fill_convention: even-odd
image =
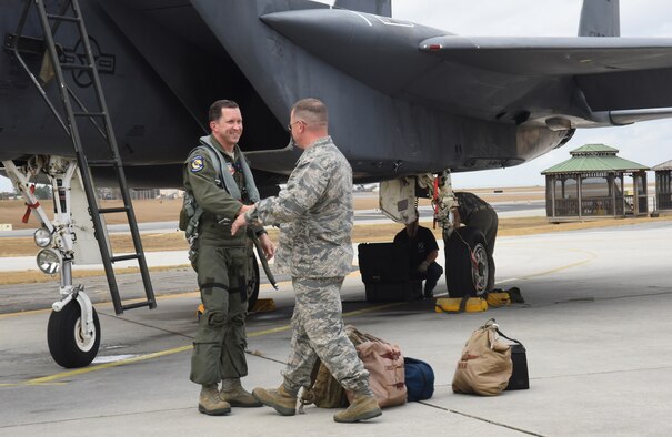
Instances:
[[[546,176],[550,222],[648,214],[649,167],[616,153],[609,145],[585,144],[571,151],[571,159],[541,172]],[[632,177],[632,194],[625,193],[625,177]]]

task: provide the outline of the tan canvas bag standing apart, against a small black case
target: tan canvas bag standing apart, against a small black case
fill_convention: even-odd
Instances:
[[[471,334],[453,376],[454,393],[494,396],[509,384],[513,366],[511,347],[500,341],[494,318]]]

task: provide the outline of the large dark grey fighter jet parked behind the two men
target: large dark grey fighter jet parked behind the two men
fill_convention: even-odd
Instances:
[[[447,234],[451,173],[519,165],[576,129],[672,116],[672,39],[619,38],[618,0],[585,0],[576,38],[457,35],[394,19],[390,0],[36,0],[42,14],[29,3],[0,3],[0,161],[28,203],[33,176],[62,194],[53,220],[36,209],[40,241],[56,251],[42,256],[46,270],[76,260],[73,226],[87,221],[72,217],[70,179],[86,180],[91,167],[99,185],[116,181],[106,165],[113,140],[129,186],[179,187],[217,99],[242,109],[241,148],[262,195],[298,157],[285,128],[292,104],[314,96],[329,108],[330,134],[355,183],[384,181],[380,196],[390,205],[429,192]],[[71,22],[86,23],[87,37]],[[104,108],[89,110],[101,95]],[[66,99],[77,111],[62,109]],[[90,165],[78,170],[82,162]],[[86,215],[96,200],[80,197]],[[411,220],[407,204],[392,215]],[[482,263],[447,270],[482,283]],[[50,337],[71,335],[69,324],[81,333],[54,339],[52,355],[87,365],[100,341],[94,309],[71,281],[61,281],[61,294],[54,312],[74,309],[50,323]]]

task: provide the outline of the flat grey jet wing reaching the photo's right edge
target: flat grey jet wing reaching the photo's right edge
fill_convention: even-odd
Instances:
[[[593,111],[672,106],[669,38],[445,35],[422,41],[420,50],[506,74],[572,77]]]

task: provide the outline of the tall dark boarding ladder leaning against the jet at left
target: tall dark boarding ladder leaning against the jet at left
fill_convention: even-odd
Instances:
[[[117,148],[117,140],[114,138],[114,131],[112,129],[110,113],[108,112],[108,106],[106,104],[106,99],[100,84],[96,59],[91,51],[91,43],[89,41],[89,34],[87,33],[87,29],[84,27],[84,18],[82,17],[79,1],[63,0],[59,10],[56,13],[51,13],[50,11],[48,11],[48,7],[46,7],[44,3],[44,0],[26,1],[26,7],[23,9],[17,33],[16,35],[13,35],[13,41],[9,42],[9,44],[11,45],[10,48],[11,50],[13,50],[14,54],[17,55],[17,59],[19,60],[23,69],[30,75],[33,84],[38,88],[38,91],[42,95],[42,99],[49,105],[49,108],[64,129],[66,133],[70,136],[70,140],[72,141],[74,154],[82,177],[82,184],[87,196],[87,202],[89,204],[91,221],[93,222],[93,228],[96,231],[98,246],[100,248],[106,276],[110,287],[110,294],[114,304],[114,312],[117,314],[122,314],[124,309],[138,308],[143,306],[148,306],[150,309],[153,309],[157,307],[157,301],[149,277],[149,270],[147,267],[144,252],[142,251],[140,232],[138,231],[138,222],[136,221],[136,214],[133,212],[131,196],[126,181],[121,157],[119,155],[119,149]],[[59,2],[49,3],[58,7]],[[21,51],[30,51],[29,47],[31,44],[34,47],[36,43],[34,38],[24,37],[22,34],[30,10],[32,9],[33,4],[37,9],[37,14],[44,32],[44,40],[38,40],[37,42],[38,45],[43,48],[43,50],[47,50],[51,59],[51,65],[53,69],[56,83],[59,87],[61,98],[60,100],[67,119],[66,121],[63,120],[59,111],[56,109],[54,103],[47,95],[47,92],[42,84],[38,81],[36,75],[32,73],[32,71],[21,57]],[[61,59],[61,57],[59,55],[62,54],[62,52],[59,53],[60,45],[57,45],[57,43],[54,42],[54,35],[57,34],[58,29],[61,24],[73,26],[77,28],[76,32],[78,32],[80,41],[82,42],[86,50],[86,53],[82,55],[81,63],[68,62],[64,57],[62,57]],[[74,93],[74,90],[66,82],[63,71],[74,71],[81,74],[90,75],[91,85],[93,87],[93,92],[96,93],[96,100],[98,102],[97,109],[89,110],[84,106],[82,100],[78,98],[78,95]],[[77,103],[77,110],[73,109],[72,101]],[[108,145],[108,156],[106,159],[87,159],[78,130],[78,123],[80,120],[88,120],[89,122],[91,122],[96,130],[102,135],[104,142]],[[123,206],[103,209],[98,205],[97,195],[91,180],[91,173],[89,172],[90,167],[111,167],[114,170],[117,182],[121,191],[121,197],[123,200]],[[104,238],[104,232],[107,232],[107,230],[103,228],[103,224],[100,218],[100,214],[109,213],[126,213],[136,253],[121,256],[113,256],[111,254],[107,238]],[[119,287],[117,285],[117,280],[114,277],[114,268],[112,264],[127,260],[136,260],[138,262],[147,299],[124,305],[122,304],[121,297],[119,295]]]

